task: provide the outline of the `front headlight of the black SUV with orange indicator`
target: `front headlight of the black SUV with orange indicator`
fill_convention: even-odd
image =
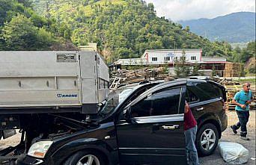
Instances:
[[[52,143],[52,141],[40,141],[34,143],[28,150],[28,155],[35,158],[44,158]]]

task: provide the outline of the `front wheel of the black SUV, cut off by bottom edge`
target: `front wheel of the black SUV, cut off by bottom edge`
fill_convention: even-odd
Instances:
[[[103,156],[94,151],[80,151],[70,156],[64,165],[106,165]]]

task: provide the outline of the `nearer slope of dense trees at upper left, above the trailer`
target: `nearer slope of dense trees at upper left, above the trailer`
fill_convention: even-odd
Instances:
[[[76,49],[64,40],[54,19],[34,12],[31,1],[0,0],[0,50]]]

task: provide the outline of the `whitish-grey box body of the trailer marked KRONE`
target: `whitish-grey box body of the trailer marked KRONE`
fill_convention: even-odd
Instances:
[[[109,81],[108,67],[97,57],[96,52],[0,52],[0,113],[96,108],[105,99],[98,81]]]

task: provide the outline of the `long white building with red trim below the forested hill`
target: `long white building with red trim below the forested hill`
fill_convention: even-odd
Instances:
[[[111,68],[122,69],[127,66],[164,66],[168,64],[168,69],[171,74],[174,73],[175,60],[185,58],[189,66],[200,65],[200,69],[212,70],[215,69],[219,75],[223,75],[227,57],[202,57],[202,49],[156,49],[146,50],[140,58],[119,59],[113,63]]]

